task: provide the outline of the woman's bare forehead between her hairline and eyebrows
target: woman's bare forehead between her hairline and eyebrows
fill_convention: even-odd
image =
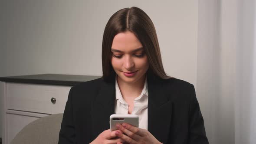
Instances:
[[[141,47],[141,42],[137,39],[135,34],[130,31],[118,33],[115,35],[112,42],[112,49],[118,49],[121,51],[128,52]]]

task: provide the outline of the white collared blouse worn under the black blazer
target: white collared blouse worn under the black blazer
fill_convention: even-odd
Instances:
[[[115,114],[127,115],[128,103],[121,95],[117,79],[115,78]],[[131,112],[139,116],[139,128],[148,130],[148,82],[145,80],[141,95],[134,100],[134,108]]]

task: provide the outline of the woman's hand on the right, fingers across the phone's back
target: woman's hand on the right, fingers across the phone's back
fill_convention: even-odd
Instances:
[[[149,131],[134,127],[131,124],[117,124],[116,127],[122,132],[115,131],[115,134],[129,144],[162,144]],[[117,144],[122,144],[122,142]]]

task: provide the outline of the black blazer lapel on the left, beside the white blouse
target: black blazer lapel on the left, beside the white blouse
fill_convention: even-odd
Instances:
[[[115,82],[102,82],[97,97],[92,102],[92,136],[110,128],[109,117],[115,112]]]

